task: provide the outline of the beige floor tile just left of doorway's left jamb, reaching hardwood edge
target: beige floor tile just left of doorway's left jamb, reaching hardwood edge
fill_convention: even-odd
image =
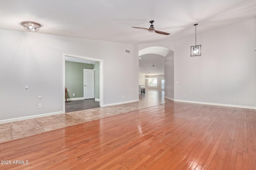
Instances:
[[[44,131],[53,131],[69,126],[67,123],[56,116],[39,117],[36,118],[36,121],[44,129]]]

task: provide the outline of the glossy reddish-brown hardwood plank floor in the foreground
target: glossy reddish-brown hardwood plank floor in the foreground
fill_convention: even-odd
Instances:
[[[3,143],[0,169],[255,170],[254,154],[254,109],[170,102]]]

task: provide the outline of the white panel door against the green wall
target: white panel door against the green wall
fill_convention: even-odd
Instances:
[[[94,70],[84,69],[84,99],[94,98]]]

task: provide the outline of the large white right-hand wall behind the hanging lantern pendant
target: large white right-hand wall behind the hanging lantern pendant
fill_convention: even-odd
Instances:
[[[256,107],[256,19],[174,42],[174,99]],[[176,84],[178,81],[178,84]],[[185,95],[185,96],[184,96]]]

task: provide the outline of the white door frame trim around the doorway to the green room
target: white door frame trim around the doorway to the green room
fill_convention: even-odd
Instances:
[[[62,100],[63,100],[64,113],[65,113],[65,57],[74,57],[74,58],[78,58],[78,59],[85,59],[85,60],[100,62],[100,107],[103,107],[104,106],[104,101],[103,101],[103,60],[63,53],[63,59],[62,59],[62,68],[63,68],[63,70],[62,70],[62,73],[63,73],[63,76],[62,76],[62,78],[63,78],[63,82],[62,82],[63,95],[62,96],[63,97],[62,97]]]

